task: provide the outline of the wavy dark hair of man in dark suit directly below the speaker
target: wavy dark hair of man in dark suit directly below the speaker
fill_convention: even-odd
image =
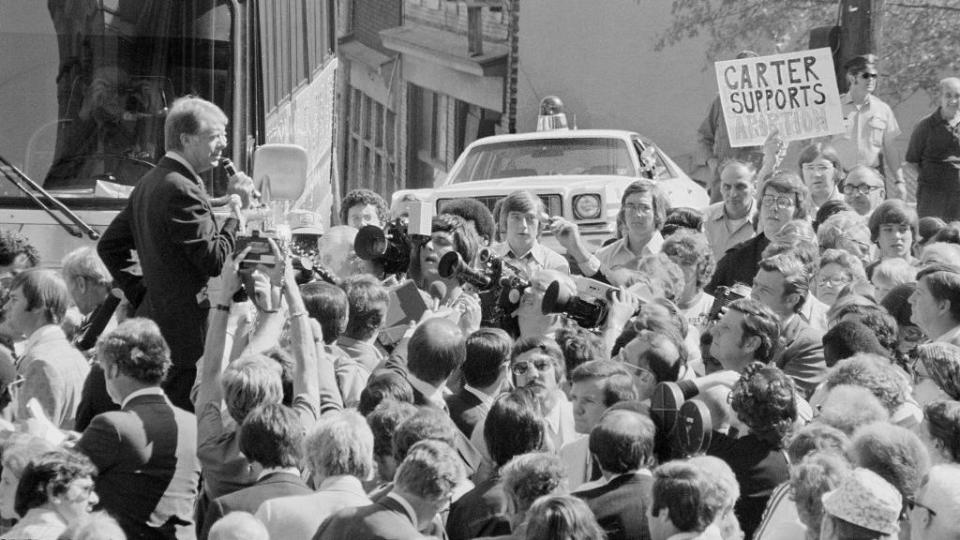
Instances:
[[[127,319],[97,342],[97,357],[142,383],[163,381],[170,367],[170,347],[157,323],[150,319]]]

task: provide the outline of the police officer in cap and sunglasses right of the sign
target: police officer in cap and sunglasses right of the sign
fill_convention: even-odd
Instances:
[[[890,106],[873,95],[880,76],[876,62],[876,56],[867,54],[844,65],[849,89],[840,96],[840,110],[845,129],[833,137],[832,143],[844,169],[866,165],[882,171],[890,193],[902,199],[906,185],[900,170],[900,152],[894,146],[900,125]]]

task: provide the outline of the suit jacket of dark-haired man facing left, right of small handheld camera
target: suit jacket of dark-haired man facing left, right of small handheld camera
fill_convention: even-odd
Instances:
[[[796,315],[783,327],[781,336],[783,349],[774,355],[773,361],[793,378],[803,397],[809,398],[827,375],[827,362],[823,358],[823,333]]]

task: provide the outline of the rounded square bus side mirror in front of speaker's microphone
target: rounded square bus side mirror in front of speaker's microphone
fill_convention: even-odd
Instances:
[[[267,201],[296,201],[307,184],[307,151],[296,144],[265,144],[253,153],[253,184]]]

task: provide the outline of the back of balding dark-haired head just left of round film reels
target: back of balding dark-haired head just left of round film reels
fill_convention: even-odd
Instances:
[[[610,410],[590,432],[590,452],[611,475],[626,474],[653,465],[656,438],[653,420],[634,411]]]

